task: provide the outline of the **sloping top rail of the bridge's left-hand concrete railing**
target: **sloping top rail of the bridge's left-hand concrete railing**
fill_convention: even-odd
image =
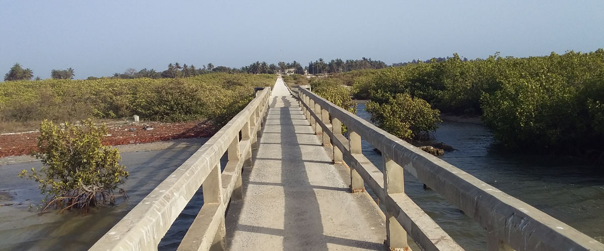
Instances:
[[[254,115],[262,99],[271,94],[266,87],[213,137],[161,182],[90,250],[154,250],[176,217],[199,190],[231,141]]]

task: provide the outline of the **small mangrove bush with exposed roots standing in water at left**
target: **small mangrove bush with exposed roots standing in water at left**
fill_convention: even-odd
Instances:
[[[128,177],[126,167],[121,166],[120,153],[116,148],[103,146],[101,139],[107,134],[107,126],[95,126],[92,120],[84,120],[82,126],[65,123],[64,128],[44,120],[38,137],[39,152],[33,156],[42,160],[39,171],[22,170],[22,178],[40,183],[40,192],[46,195],[43,210],[49,207],[80,208],[88,212],[90,206],[114,203],[114,191]]]

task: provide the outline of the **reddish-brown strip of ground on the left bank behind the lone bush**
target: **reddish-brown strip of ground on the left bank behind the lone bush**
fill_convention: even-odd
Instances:
[[[144,126],[152,126],[152,130],[145,130]],[[161,122],[117,122],[108,123],[108,136],[103,139],[103,144],[117,146],[120,144],[150,143],[178,138],[211,137],[216,131],[205,120],[186,123],[161,123]],[[37,150],[37,136],[39,132],[25,132],[21,134],[0,135],[0,158],[13,155],[27,155]]]

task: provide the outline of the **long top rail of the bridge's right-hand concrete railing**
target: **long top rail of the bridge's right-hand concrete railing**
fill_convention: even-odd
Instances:
[[[466,215],[520,250],[604,250],[604,244],[509,196],[469,173],[414,147],[324,98],[298,88],[361,138],[411,175],[441,194]]]

